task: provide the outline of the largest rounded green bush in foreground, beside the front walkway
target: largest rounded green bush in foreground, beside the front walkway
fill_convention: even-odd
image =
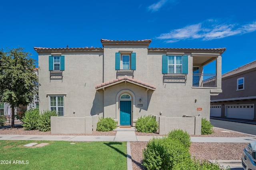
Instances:
[[[150,170],[171,170],[187,159],[191,159],[188,148],[177,139],[153,138],[143,150],[142,165]]]

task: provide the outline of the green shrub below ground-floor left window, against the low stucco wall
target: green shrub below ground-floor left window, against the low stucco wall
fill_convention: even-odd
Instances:
[[[38,129],[40,131],[51,131],[51,116],[58,116],[56,111],[44,111],[40,115],[40,119],[38,120]]]

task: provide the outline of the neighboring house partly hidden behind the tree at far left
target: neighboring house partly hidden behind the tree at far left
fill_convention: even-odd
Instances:
[[[35,74],[38,76],[38,68],[34,69]],[[38,88],[38,87],[37,87]],[[0,115],[8,115],[8,103],[0,104]],[[20,111],[27,111],[29,109],[35,109],[39,108],[39,99],[38,95],[34,96],[34,101],[31,104],[28,104],[28,106],[19,106],[18,108],[15,109],[15,113],[20,112]]]

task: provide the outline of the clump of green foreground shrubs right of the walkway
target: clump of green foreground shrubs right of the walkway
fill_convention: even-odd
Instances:
[[[174,130],[168,137],[153,138],[143,149],[142,165],[148,170],[224,170],[217,162],[191,159],[190,137],[187,132]]]

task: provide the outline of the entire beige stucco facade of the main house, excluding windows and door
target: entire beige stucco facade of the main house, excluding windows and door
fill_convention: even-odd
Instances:
[[[119,83],[96,91],[95,85],[116,79],[115,53],[136,53],[134,79],[156,86],[155,91],[142,86]],[[193,56],[188,55],[187,80],[183,82],[164,82],[162,74],[162,55],[166,52],[148,52],[146,45],[104,46],[102,52],[64,52],[65,70],[63,80],[51,80],[48,70],[50,53],[39,54],[39,98],[40,111],[50,108],[50,95],[64,96],[64,115],[66,117],[86,117],[104,115],[112,117],[120,124],[119,98],[128,93],[132,97],[132,125],[142,115],[182,117],[182,115],[210,117],[210,93],[220,88],[192,87]],[[221,56],[216,61],[217,74],[221,75]],[[218,75],[217,75],[218,76]],[[219,76],[217,81],[220,84]],[[141,99],[141,102],[139,100]],[[143,104],[138,107],[138,104]],[[202,108],[198,111],[197,108]]]

